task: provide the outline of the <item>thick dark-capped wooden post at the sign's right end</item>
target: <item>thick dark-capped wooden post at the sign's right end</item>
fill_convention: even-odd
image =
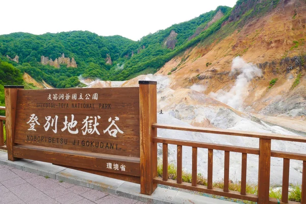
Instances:
[[[140,106],[140,192],[151,195],[157,188],[153,183],[157,176],[157,130],[152,123],[157,122],[157,82],[139,81]]]

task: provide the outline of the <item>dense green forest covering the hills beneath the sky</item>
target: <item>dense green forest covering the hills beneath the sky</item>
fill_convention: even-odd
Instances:
[[[278,4],[278,0],[266,0],[256,3],[256,7],[247,10],[247,0],[239,0],[234,8],[219,6],[216,10],[201,14],[186,22],[157,31],[133,41],[122,36],[98,36],[89,31],[71,31],[33,35],[30,33],[12,33],[0,35],[0,104],[4,104],[3,85],[24,85],[35,88],[22,80],[22,74],[28,73],[38,82],[46,82],[55,88],[82,87],[80,77],[123,81],[143,73],[155,73],[167,61],[181,55],[187,48],[207,46],[231,35],[253,16],[268,12]],[[241,7],[239,13],[235,8]],[[211,24],[199,35],[189,40],[198,28],[205,28],[215,14],[221,10],[224,16]],[[238,20],[231,16],[239,15]],[[227,23],[224,24],[224,22]],[[223,26],[222,26],[223,25]],[[171,31],[177,33],[174,49],[164,43]],[[42,65],[41,56],[55,60],[61,57],[74,58],[77,68],[60,64],[60,68]],[[19,57],[18,63],[12,61]],[[107,63],[108,56],[112,64]],[[9,59],[10,58],[10,59]]]

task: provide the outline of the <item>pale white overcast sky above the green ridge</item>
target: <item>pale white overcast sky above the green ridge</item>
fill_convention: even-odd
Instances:
[[[1,2],[0,35],[36,35],[90,31],[100,36],[121,35],[139,40],[172,24],[188,21],[218,6],[233,7],[237,0],[86,0]]]

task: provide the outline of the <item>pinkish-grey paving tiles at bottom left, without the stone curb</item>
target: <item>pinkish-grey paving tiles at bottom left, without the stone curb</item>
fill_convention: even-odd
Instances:
[[[141,204],[144,202],[0,165],[0,203]]]

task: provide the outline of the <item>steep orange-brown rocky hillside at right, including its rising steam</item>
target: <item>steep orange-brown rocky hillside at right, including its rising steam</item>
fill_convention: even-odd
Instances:
[[[257,11],[258,2],[269,3],[265,15]],[[230,23],[243,21],[228,34]],[[306,121],[305,24],[303,0],[238,1],[218,32],[171,59],[158,74],[169,75],[174,90],[198,84],[233,108]]]

